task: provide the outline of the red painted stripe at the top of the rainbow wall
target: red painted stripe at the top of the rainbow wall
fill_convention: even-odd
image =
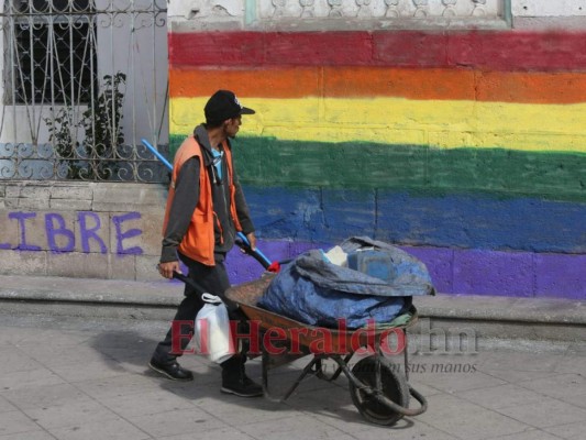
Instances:
[[[172,33],[184,66],[472,67],[586,70],[585,32],[204,32]]]

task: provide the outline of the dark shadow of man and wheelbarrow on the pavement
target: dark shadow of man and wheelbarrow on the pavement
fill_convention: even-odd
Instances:
[[[192,382],[169,381],[148,369],[147,363],[158,340],[147,338],[144,333],[134,330],[106,330],[88,340],[90,348],[103,356],[104,367],[152,378],[161,388],[174,395],[202,406],[234,405],[246,407],[248,410],[279,413],[306,413],[330,420],[344,420],[345,422],[367,424],[352,404],[345,377],[340,377],[334,383],[310,377],[305,380],[297,391],[284,403],[275,403],[265,398],[242,398],[222,394],[221,369],[210,363],[203,356],[186,354],[180,358],[180,363],[195,374]],[[308,358],[309,361],[309,358]],[[259,382],[262,376],[261,360],[247,362],[246,371],[250,377]],[[299,365],[284,365],[269,372],[269,391],[274,397],[281,397],[297,381],[302,367]],[[397,424],[395,429],[411,426],[408,419]]]

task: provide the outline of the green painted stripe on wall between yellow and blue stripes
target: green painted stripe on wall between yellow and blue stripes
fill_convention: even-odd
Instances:
[[[178,145],[183,138],[173,139]],[[488,193],[586,201],[586,154],[239,138],[241,182],[266,187]]]

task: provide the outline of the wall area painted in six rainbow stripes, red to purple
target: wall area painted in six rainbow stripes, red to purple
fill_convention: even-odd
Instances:
[[[586,299],[585,41],[172,31],[172,151],[232,89],[257,111],[234,150],[265,254],[364,234],[442,293]],[[234,282],[256,276],[235,258]]]

